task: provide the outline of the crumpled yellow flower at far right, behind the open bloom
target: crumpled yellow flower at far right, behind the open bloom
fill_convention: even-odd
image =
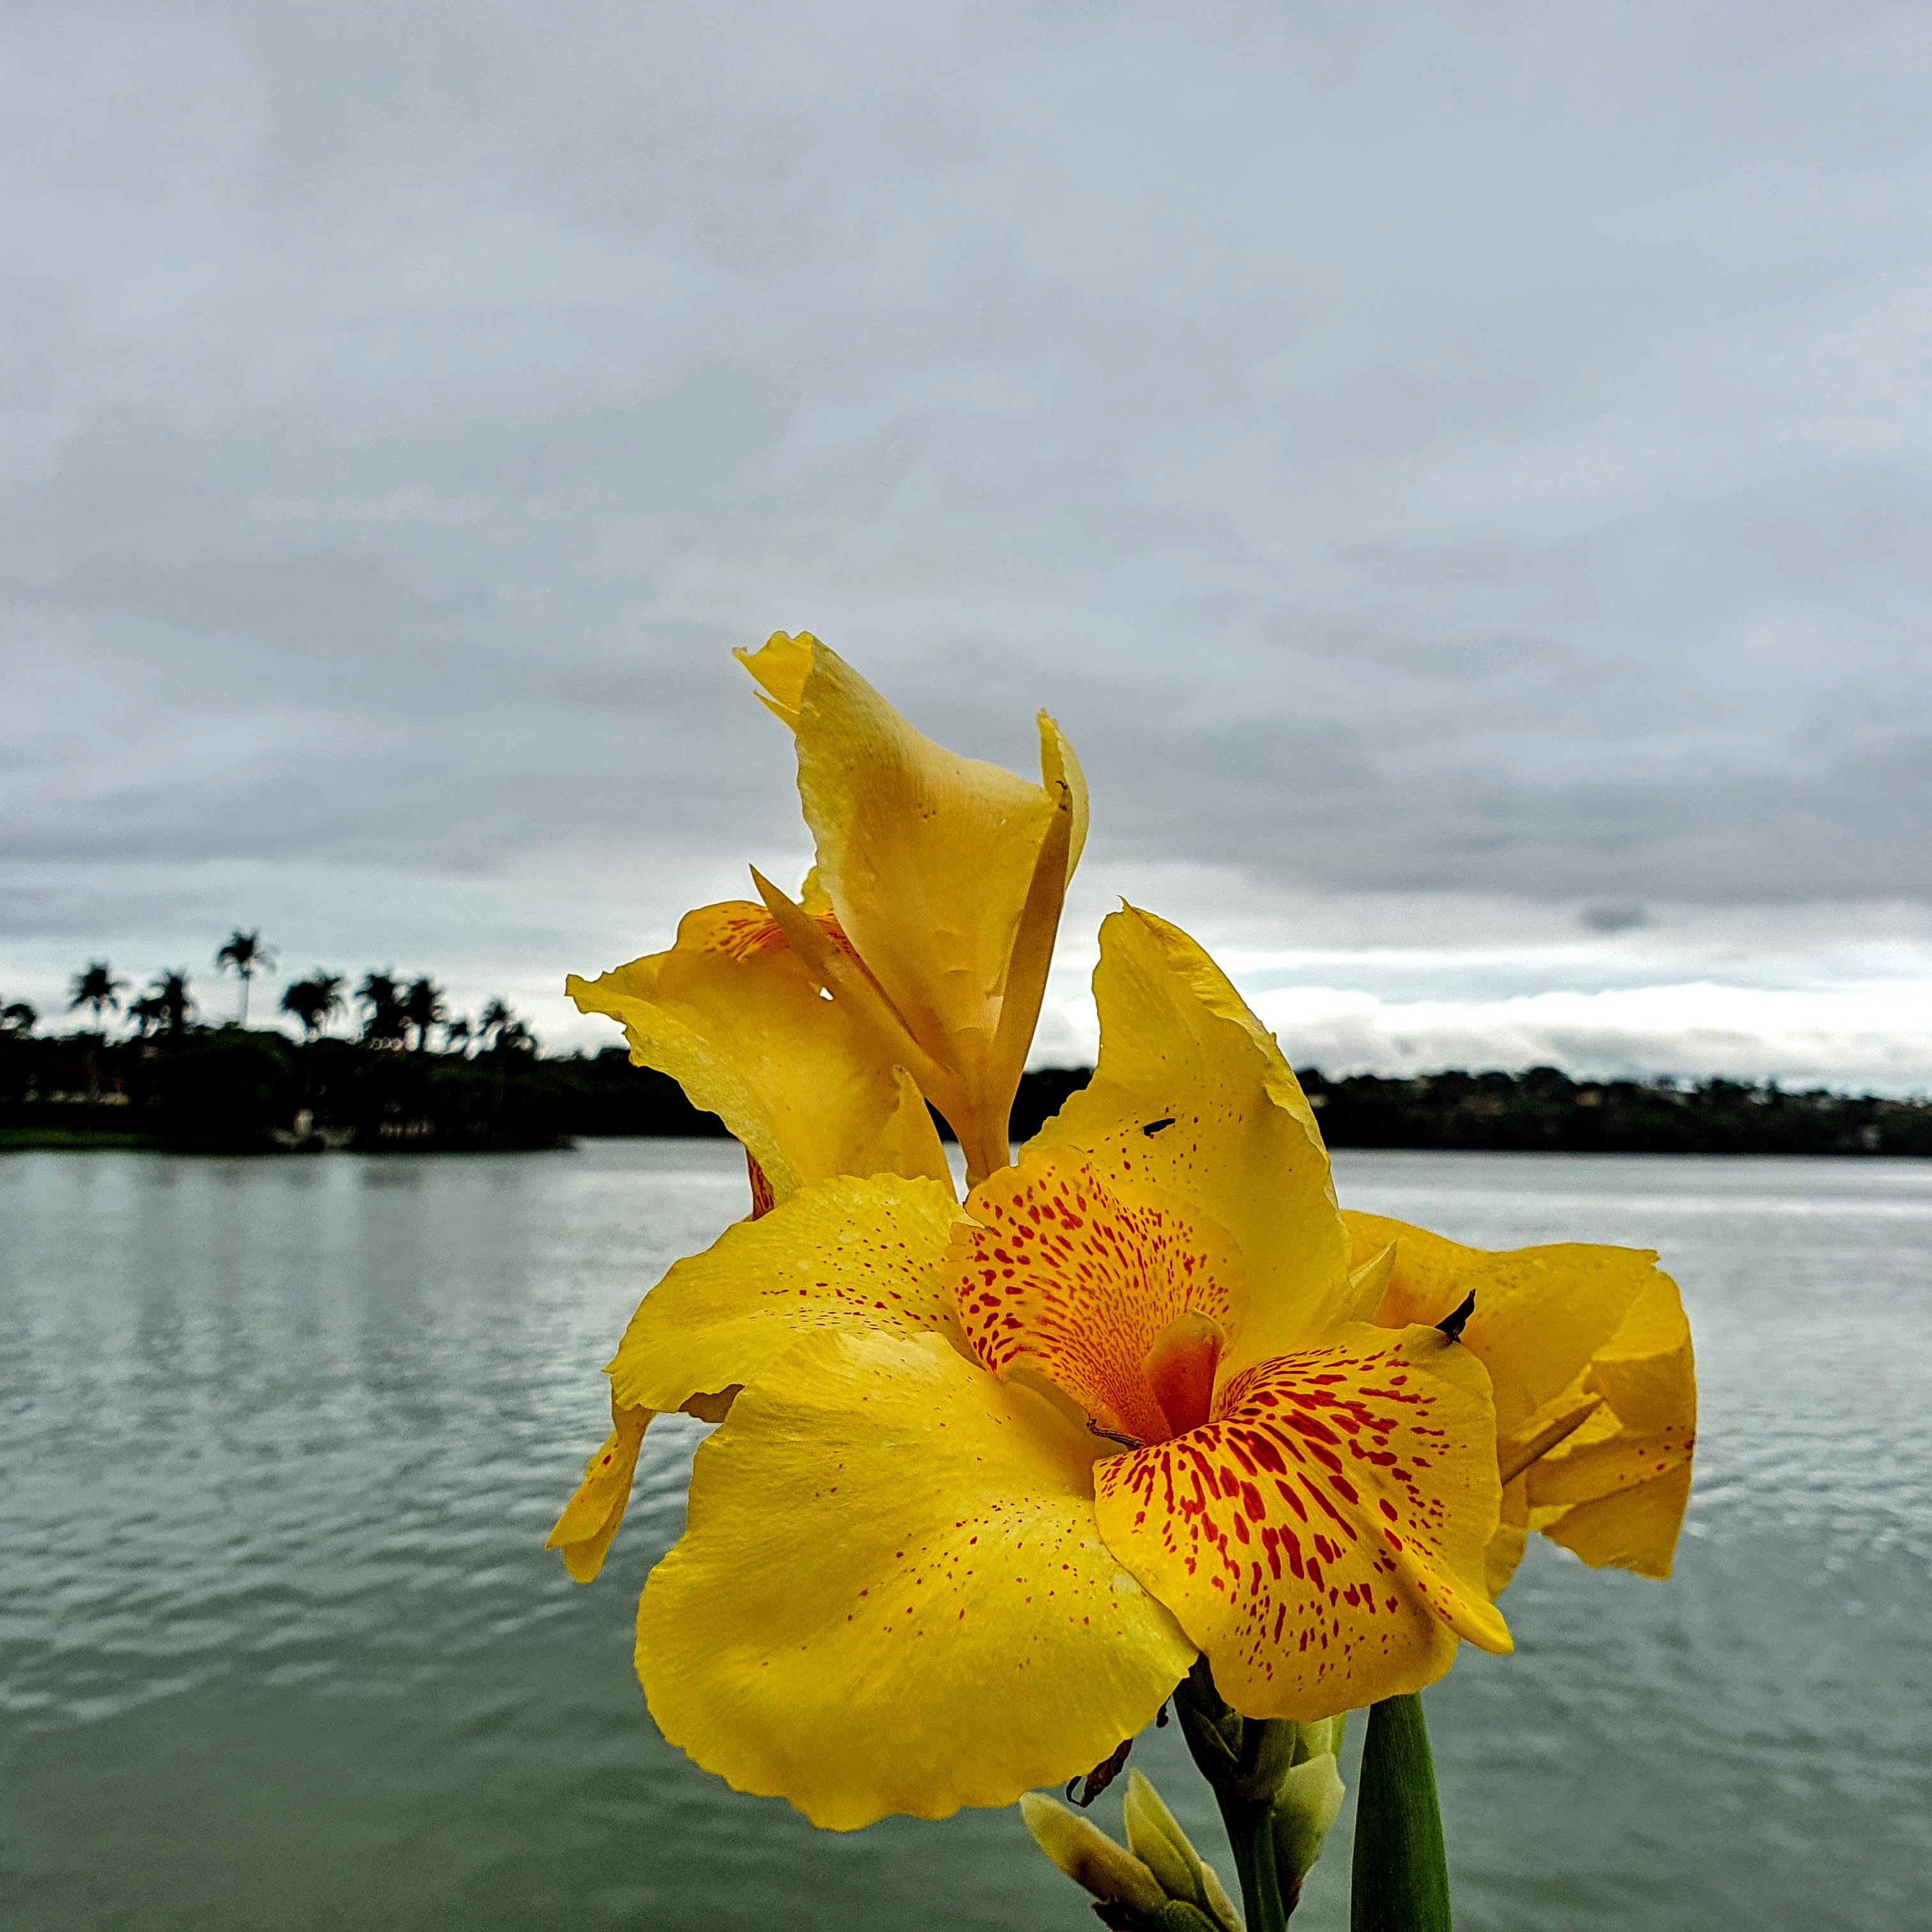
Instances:
[[[1474,1293],[1463,1343],[1495,1387],[1501,1592],[1528,1530],[1594,1567],[1669,1577],[1690,1497],[1696,1372],[1677,1283],[1642,1248],[1464,1248],[1345,1213],[1360,1265],[1393,1244],[1376,1321],[1441,1321]]]

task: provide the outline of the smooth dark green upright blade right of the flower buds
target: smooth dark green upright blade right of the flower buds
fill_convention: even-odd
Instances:
[[[1420,1696],[1368,1714],[1354,1810],[1350,1932],[1449,1932],[1449,1861]]]

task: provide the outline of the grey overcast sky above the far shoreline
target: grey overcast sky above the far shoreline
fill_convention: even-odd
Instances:
[[[0,997],[545,1041],[811,628],[1300,1065],[1932,1086],[1932,12],[0,10]],[[259,999],[261,995],[257,995]]]

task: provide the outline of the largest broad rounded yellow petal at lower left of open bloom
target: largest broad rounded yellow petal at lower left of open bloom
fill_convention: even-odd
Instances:
[[[835,1830],[1086,1772],[1192,1658],[1080,1432],[931,1335],[815,1335],[748,1387],[638,1613],[665,1737]]]

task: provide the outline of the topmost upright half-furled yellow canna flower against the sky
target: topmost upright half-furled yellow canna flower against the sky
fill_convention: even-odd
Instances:
[[[966,1179],[1009,1161],[1007,1117],[1039,1020],[1086,781],[1039,713],[1041,782],[916,732],[810,632],[738,653],[798,740],[798,796],[838,947],[757,879],[786,939],[947,1117]]]

